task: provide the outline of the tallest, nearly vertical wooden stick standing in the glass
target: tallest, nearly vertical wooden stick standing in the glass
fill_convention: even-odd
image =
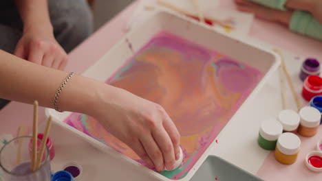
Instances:
[[[32,171],[36,170],[38,143],[38,101],[34,101],[34,121],[32,125]]]

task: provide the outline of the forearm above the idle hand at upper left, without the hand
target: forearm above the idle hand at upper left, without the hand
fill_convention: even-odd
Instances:
[[[15,3],[23,21],[23,31],[35,27],[52,31],[47,0],[15,0]]]

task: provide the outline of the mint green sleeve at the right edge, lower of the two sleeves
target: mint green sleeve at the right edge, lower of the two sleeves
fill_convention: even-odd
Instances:
[[[290,20],[290,29],[298,34],[322,40],[322,23],[319,23],[310,12],[294,11]]]

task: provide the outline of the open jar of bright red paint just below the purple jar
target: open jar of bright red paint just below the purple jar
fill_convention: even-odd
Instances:
[[[302,96],[310,101],[316,95],[322,95],[322,78],[318,75],[310,75],[303,83]]]

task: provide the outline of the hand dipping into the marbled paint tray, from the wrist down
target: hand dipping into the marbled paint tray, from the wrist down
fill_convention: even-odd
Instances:
[[[129,145],[149,167],[158,171],[175,169],[180,154],[180,134],[162,108],[127,90],[107,87],[101,92],[94,117],[111,134]],[[107,94],[112,93],[112,94]]]

